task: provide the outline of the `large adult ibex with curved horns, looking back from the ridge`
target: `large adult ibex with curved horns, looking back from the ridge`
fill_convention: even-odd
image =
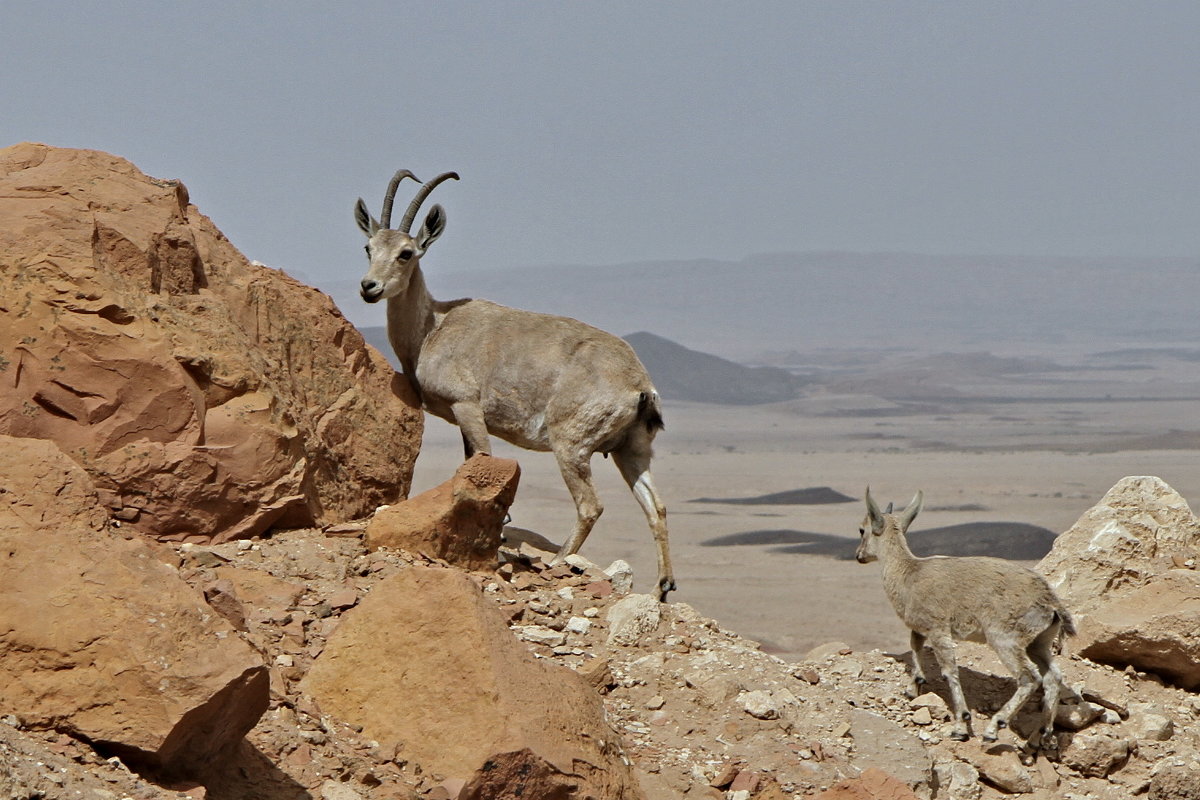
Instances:
[[[359,199],[354,218],[367,235],[367,302],[388,300],[388,338],[426,410],[458,426],[467,457],[490,453],[488,434],[527,450],[551,451],[575,500],[576,523],[556,560],[577,552],[602,506],[592,486],[592,455],[612,455],[658,545],[660,600],[676,588],[666,509],[650,476],[652,443],[662,428],[659,393],[623,339],[565,317],[486,300],[430,296],[420,259],[445,229],[434,205],[416,235],[421,204],[444,173],[424,184],[400,228],[390,229],[396,173],[377,222]],[[420,182],[420,181],[418,181]]]

